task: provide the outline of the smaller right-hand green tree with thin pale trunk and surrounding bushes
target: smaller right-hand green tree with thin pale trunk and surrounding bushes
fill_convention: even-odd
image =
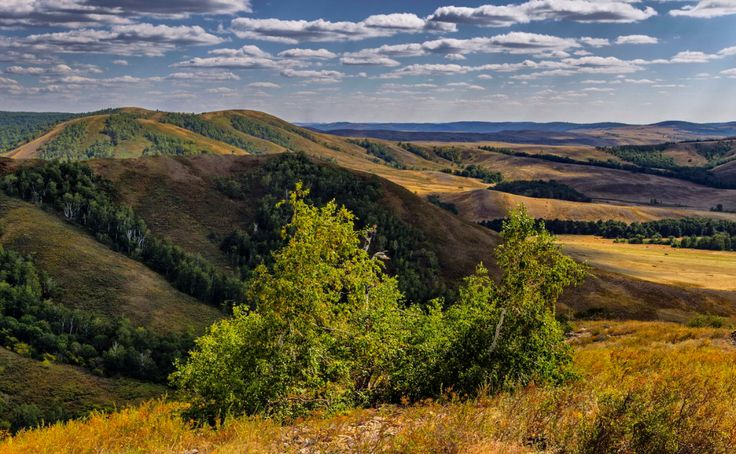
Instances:
[[[412,399],[446,390],[474,395],[570,376],[571,352],[555,318],[563,290],[585,267],[565,256],[544,225],[523,207],[504,222],[496,249],[497,283],[481,264],[447,310],[412,317],[412,338],[394,391]]]

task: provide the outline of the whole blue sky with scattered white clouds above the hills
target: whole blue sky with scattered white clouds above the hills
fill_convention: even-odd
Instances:
[[[736,120],[736,0],[0,0],[0,110]]]

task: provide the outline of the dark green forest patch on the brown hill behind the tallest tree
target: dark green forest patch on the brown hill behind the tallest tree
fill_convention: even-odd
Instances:
[[[402,222],[387,209],[376,178],[362,179],[347,170],[318,165],[303,154],[285,154],[267,161],[256,173],[218,180],[226,195],[247,200],[261,197],[254,220],[256,228],[238,229],[222,242],[222,249],[241,269],[244,278],[261,263],[271,260],[271,252],[283,245],[281,229],[291,214],[278,205],[297,182],[310,189],[310,201],[324,204],[335,199],[358,217],[361,227],[376,226],[371,252],[385,252],[388,269],[396,274],[401,290],[413,301],[428,301],[444,295],[439,263],[431,245],[416,228]]]

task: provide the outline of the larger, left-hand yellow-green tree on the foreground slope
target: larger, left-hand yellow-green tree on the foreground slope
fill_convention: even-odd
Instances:
[[[368,404],[385,392],[402,333],[395,278],[369,256],[370,232],[333,201],[290,196],[286,245],[259,266],[234,317],[197,341],[173,381],[200,415],[295,416]]]

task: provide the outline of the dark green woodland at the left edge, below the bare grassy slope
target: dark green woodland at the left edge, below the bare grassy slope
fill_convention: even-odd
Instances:
[[[163,382],[193,336],[160,336],[125,319],[54,303],[53,282],[0,248],[0,343],[21,356],[78,365],[99,375]]]

